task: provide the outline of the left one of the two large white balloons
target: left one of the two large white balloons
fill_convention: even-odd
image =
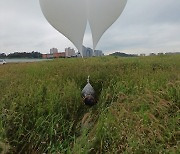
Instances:
[[[86,0],[40,0],[40,6],[48,22],[82,53],[87,24]]]

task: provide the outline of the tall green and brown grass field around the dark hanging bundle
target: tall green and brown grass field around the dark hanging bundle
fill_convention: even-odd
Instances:
[[[179,109],[180,55],[0,66],[1,152],[179,153]]]

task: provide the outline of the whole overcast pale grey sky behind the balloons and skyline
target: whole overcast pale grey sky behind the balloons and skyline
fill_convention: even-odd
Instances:
[[[92,47],[88,25],[84,45]],[[0,0],[0,53],[48,53],[53,47],[75,48],[46,21],[39,0]],[[97,49],[105,54],[180,52],[180,0],[128,0]]]

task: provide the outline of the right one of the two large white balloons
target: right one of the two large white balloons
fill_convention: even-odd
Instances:
[[[87,16],[92,31],[93,49],[104,32],[118,19],[127,0],[87,0]]]

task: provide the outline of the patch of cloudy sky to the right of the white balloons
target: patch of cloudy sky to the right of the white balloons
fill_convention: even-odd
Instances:
[[[98,48],[126,52],[167,52],[180,48],[180,1],[129,0]]]

